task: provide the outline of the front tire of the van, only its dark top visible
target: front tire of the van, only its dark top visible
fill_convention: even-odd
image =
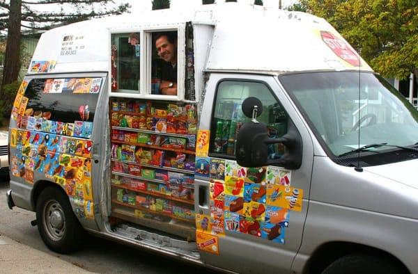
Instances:
[[[377,257],[366,254],[346,255],[336,261],[332,262],[323,274],[380,274],[391,273],[401,274],[405,273],[404,269],[399,264],[394,264],[394,261],[385,256]]]

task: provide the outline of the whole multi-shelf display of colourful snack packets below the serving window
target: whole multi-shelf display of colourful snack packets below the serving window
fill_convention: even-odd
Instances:
[[[113,98],[111,217],[195,239],[196,105]]]

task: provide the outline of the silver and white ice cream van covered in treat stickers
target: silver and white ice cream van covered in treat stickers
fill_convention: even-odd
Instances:
[[[324,19],[245,3],[42,34],[10,118],[14,206],[232,273],[417,273],[418,113]]]

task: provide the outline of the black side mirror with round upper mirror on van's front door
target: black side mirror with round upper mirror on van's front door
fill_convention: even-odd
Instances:
[[[242,102],[242,112],[245,115],[251,113],[252,120],[243,124],[238,131],[235,150],[237,163],[243,167],[278,165],[292,170],[300,168],[302,165],[302,138],[295,124],[289,120],[287,134],[281,138],[270,138],[265,124],[255,119],[257,115],[261,114],[258,113],[260,108],[256,107],[256,114],[254,114],[254,108],[249,111],[251,104],[254,105],[254,102],[256,102],[254,100],[256,98],[250,98]],[[248,99],[250,100],[247,101]],[[260,101],[258,100],[258,102]],[[246,108],[246,111],[244,111],[244,108]],[[286,147],[285,153],[281,155],[280,159],[268,159],[268,145],[274,143],[281,143]]]

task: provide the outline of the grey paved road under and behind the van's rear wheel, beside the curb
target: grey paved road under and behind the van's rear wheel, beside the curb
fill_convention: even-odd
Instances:
[[[50,255],[95,273],[210,273],[204,268],[160,257],[142,250],[98,239],[88,238],[84,250],[71,255],[59,255],[48,250],[38,234],[38,228],[32,227],[35,213],[23,209],[8,209],[6,191],[8,182],[0,179],[0,234],[8,236],[31,248],[42,250]]]

